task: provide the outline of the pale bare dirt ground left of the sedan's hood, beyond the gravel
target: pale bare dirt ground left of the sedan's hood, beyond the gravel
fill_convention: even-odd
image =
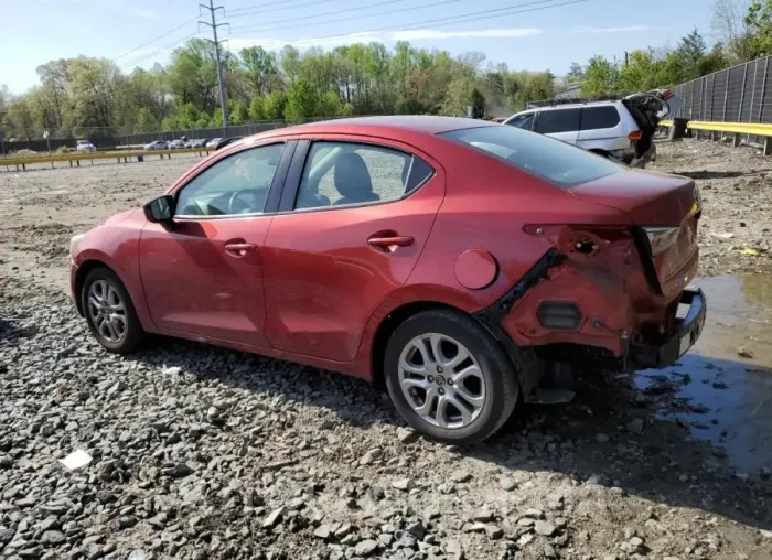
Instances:
[[[0,276],[66,290],[72,235],[163,193],[196,161],[0,172]]]

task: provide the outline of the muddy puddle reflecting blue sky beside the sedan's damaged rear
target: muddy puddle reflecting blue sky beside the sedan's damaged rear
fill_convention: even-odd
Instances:
[[[738,471],[757,475],[772,469],[772,277],[694,284],[708,302],[703,335],[676,366],[640,371],[636,384],[656,391],[663,383],[685,381],[662,417],[688,423],[694,437],[722,446]],[[753,358],[739,356],[740,346]]]

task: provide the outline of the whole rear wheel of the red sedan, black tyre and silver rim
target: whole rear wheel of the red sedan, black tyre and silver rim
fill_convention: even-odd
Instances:
[[[399,413],[441,443],[491,437],[510,418],[519,394],[515,368],[500,344],[453,310],[421,312],[401,323],[389,338],[384,365]]]

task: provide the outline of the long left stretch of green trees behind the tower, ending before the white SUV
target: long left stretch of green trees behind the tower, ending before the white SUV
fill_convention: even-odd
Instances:
[[[461,115],[470,104],[507,112],[554,90],[549,72],[484,66],[482,53],[452,57],[407,42],[393,51],[374,42],[302,53],[293,46],[278,53],[254,46],[222,56],[230,125],[346,115]],[[37,75],[40,85],[24,95],[0,90],[7,137],[40,138],[44,129],[122,134],[223,123],[215,51],[202,39],[174,50],[167,66],[124,74],[109,60],[82,56],[51,61],[37,67]]]

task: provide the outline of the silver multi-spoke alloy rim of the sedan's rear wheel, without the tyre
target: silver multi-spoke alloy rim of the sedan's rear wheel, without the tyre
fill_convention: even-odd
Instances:
[[[465,428],[485,403],[485,378],[472,353],[455,338],[427,333],[399,356],[399,386],[422,420],[446,429]]]

